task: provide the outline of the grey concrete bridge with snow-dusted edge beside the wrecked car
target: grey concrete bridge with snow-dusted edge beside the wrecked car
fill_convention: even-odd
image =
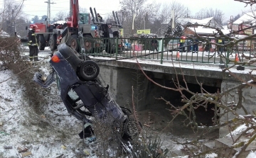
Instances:
[[[188,89],[193,92],[201,93],[201,89],[198,83],[203,83],[203,88],[209,93],[215,93],[219,91],[225,91],[235,85],[241,84],[242,81],[249,81],[252,77],[249,72],[251,72],[255,67],[245,67],[245,70],[237,70],[236,67],[230,68],[229,72],[223,72],[219,66],[220,64],[212,63],[197,63],[197,62],[179,62],[175,60],[166,60],[162,64],[159,60],[149,60],[149,59],[139,59],[139,64],[137,60],[117,60],[108,61],[111,58],[106,57],[92,57],[92,60],[99,61],[100,65],[100,78],[103,84],[110,86],[110,93],[112,97],[119,103],[120,106],[131,106],[132,105],[132,93],[134,93],[134,101],[137,110],[141,111],[148,108],[153,108],[159,100],[156,98],[164,97],[167,101],[171,101],[175,106],[182,106],[181,94],[177,91],[171,91],[163,89],[152,81],[161,84],[162,86],[167,86],[171,88],[176,88],[174,81],[179,81],[181,85],[185,86],[184,79],[188,85]],[[100,62],[104,61],[104,62]],[[142,67],[144,73],[151,79],[146,78],[146,76],[139,69]],[[256,72],[252,72],[255,75]],[[235,76],[235,77],[234,77]],[[133,87],[133,91],[132,91]],[[255,99],[255,88],[250,87],[248,89],[243,89],[244,102],[243,106],[251,114],[252,111],[256,110]],[[188,95],[189,94],[185,94]],[[231,93],[231,95],[237,95],[236,89]],[[238,101],[238,97],[234,97],[235,101]],[[227,97],[226,101],[234,101],[231,96]],[[162,101],[162,103],[164,103]],[[237,102],[236,102],[237,103]],[[220,113],[221,113],[220,109]],[[242,110],[239,109],[240,114],[243,115]],[[204,115],[202,116],[202,121],[210,121],[213,114],[209,111],[201,111]],[[203,118],[207,117],[207,119]],[[232,118],[232,114],[225,115],[220,121],[225,121]],[[228,128],[220,128],[220,137],[229,133]]]

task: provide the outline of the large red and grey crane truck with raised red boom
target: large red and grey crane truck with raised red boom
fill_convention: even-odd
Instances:
[[[82,43],[85,52],[93,52],[94,48],[97,47],[98,50],[114,53],[116,45],[118,45],[118,51],[122,51],[122,41],[117,40],[120,37],[119,28],[122,28],[117,12],[112,11],[114,21],[105,23],[105,21],[100,21],[97,18],[95,8],[94,15],[90,7],[90,16],[90,13],[79,13],[78,0],[70,0],[70,4],[72,5],[72,16],[65,23],[48,24],[46,19],[45,23],[31,24],[37,26],[36,35],[39,50],[44,50],[46,46],[49,46],[50,50],[53,51],[61,43],[66,43],[80,52],[80,44]],[[106,39],[99,43],[95,38]]]

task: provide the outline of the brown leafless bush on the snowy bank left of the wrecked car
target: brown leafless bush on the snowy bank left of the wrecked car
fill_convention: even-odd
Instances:
[[[26,89],[23,97],[36,113],[40,114],[40,105],[46,103],[46,99],[42,96],[48,89],[43,89],[32,81],[34,72],[40,71],[39,67],[23,60],[21,45],[16,37],[0,38],[0,49],[0,61],[4,67],[16,74],[18,84]]]

